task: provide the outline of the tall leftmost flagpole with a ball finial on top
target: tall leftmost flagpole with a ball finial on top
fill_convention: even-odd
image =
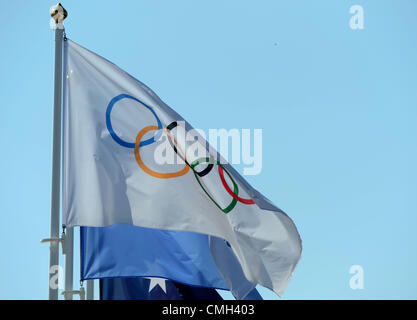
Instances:
[[[60,9],[62,8],[62,9]],[[66,11],[58,3],[51,10],[55,20],[55,66],[54,66],[54,115],[52,138],[52,182],[51,182],[51,237],[49,251],[49,300],[58,300],[58,286],[55,272],[59,272],[59,216],[60,216],[60,180],[61,180],[61,101],[62,101],[62,41],[64,28],[62,21]],[[65,14],[64,14],[65,12]],[[58,17],[62,14],[62,18]],[[59,279],[58,275],[58,279]]]

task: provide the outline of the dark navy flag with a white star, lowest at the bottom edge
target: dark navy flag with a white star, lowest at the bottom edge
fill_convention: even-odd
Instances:
[[[100,300],[223,300],[215,289],[191,287],[162,278],[100,280]]]

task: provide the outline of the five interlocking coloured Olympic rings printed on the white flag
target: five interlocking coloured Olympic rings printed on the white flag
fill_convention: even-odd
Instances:
[[[142,107],[148,109],[152,115],[154,116],[156,120],[156,125],[150,125],[144,127],[142,130],[139,131],[138,135],[136,136],[136,140],[134,142],[127,142],[123,139],[121,139],[116,132],[113,130],[112,122],[111,122],[111,112],[116,105],[117,102],[119,102],[122,99],[130,99],[138,102]],[[255,204],[255,202],[252,199],[245,199],[238,196],[239,194],[239,187],[236,181],[233,179],[233,176],[230,174],[230,172],[217,160],[214,160],[210,157],[205,158],[199,158],[195,161],[193,161],[191,164],[187,161],[186,155],[184,150],[181,149],[181,147],[178,145],[177,141],[175,140],[174,136],[172,135],[171,131],[178,126],[178,123],[176,121],[170,123],[166,128],[162,128],[161,120],[159,119],[158,115],[155,113],[155,110],[145,104],[144,102],[140,101],[139,99],[128,95],[128,94],[120,94],[113,99],[110,100],[107,110],[106,110],[106,127],[107,130],[110,133],[110,136],[113,138],[115,142],[117,142],[119,145],[125,148],[130,148],[134,150],[134,155],[137,164],[139,167],[148,175],[158,178],[158,179],[171,179],[171,178],[177,178],[181,177],[188,173],[188,171],[191,171],[194,173],[194,176],[200,185],[200,187],[203,189],[204,193],[209,197],[209,199],[224,213],[229,213],[233,210],[233,208],[237,205],[238,202],[246,205],[252,205]],[[150,131],[156,131],[156,134],[146,140],[143,140],[143,137]],[[141,155],[140,155],[140,148],[146,147],[148,145],[153,144],[154,142],[158,141],[162,135],[162,133],[165,133],[168,137],[168,141],[173,148],[174,152],[181,157],[181,159],[184,161],[185,165],[184,168],[177,172],[169,172],[169,173],[160,173],[156,172],[152,169],[150,169],[146,164],[143,162]],[[197,171],[196,167],[202,163],[207,163],[207,166],[201,170]],[[204,186],[201,178],[209,174],[212,169],[214,168],[214,164],[218,167],[218,173],[220,180],[222,182],[223,187],[227,191],[227,193],[232,197],[232,201],[224,208],[220,206],[218,202],[213,198],[212,195],[208,192],[207,188]],[[230,179],[230,181],[233,184],[233,190],[229,187],[227,184],[227,181],[225,179],[224,173],[226,172],[226,175]]]

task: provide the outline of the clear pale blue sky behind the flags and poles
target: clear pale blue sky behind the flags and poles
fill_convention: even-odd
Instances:
[[[54,4],[0,1],[0,299],[48,294]],[[364,30],[349,28],[354,4]],[[247,179],[304,245],[283,299],[417,298],[415,0],[63,5],[69,38],[195,127],[263,129]]]

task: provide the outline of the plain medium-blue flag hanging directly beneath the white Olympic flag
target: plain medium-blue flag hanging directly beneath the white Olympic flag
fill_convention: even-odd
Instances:
[[[207,235],[131,225],[81,227],[81,279],[158,277],[228,290]]]

